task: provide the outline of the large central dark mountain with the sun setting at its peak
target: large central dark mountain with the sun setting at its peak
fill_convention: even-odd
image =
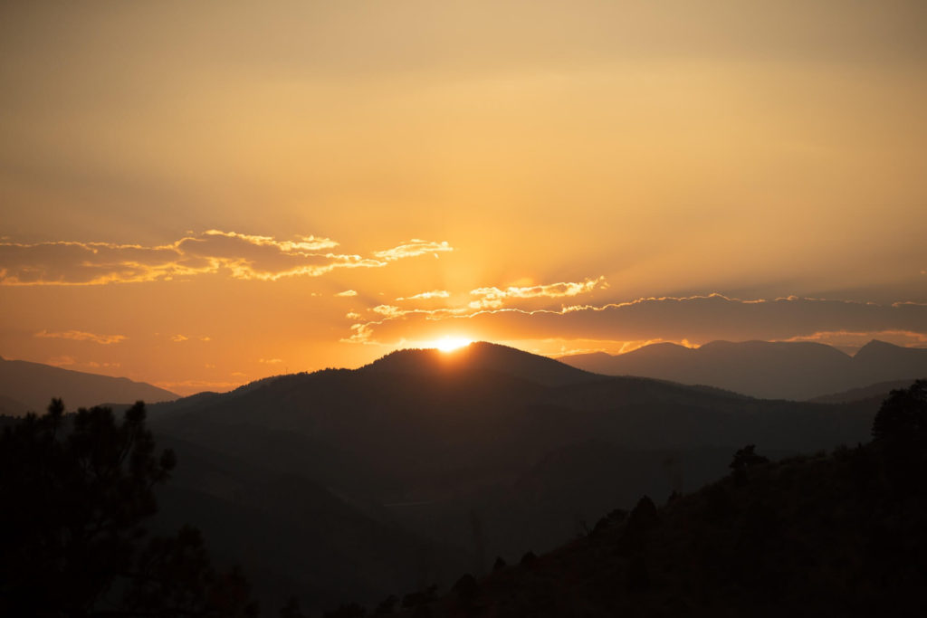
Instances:
[[[551,549],[609,505],[630,506],[642,491],[666,496],[716,478],[745,444],[781,453],[857,444],[869,436],[876,409],[594,375],[484,343],[450,354],[401,351],[358,370],[277,376],[157,404],[150,418],[159,442],[253,470],[249,486],[276,486],[273,479],[296,474],[371,526],[451,548],[429,549],[431,558],[415,574],[412,561],[396,567],[405,581],[419,574],[425,584],[450,585],[461,555],[480,574],[496,555],[511,560],[528,549]],[[184,486],[216,498],[206,476]],[[244,506],[286,513],[300,494],[295,486],[258,492],[260,499]],[[227,503],[228,495],[222,499]],[[204,506],[189,519],[207,538],[210,527],[240,521],[242,536],[284,542],[272,523],[278,520],[226,519],[224,508]],[[319,534],[336,520],[320,516]],[[224,539],[222,552],[234,555],[235,535],[225,529],[217,537]],[[348,551],[357,569],[378,560],[360,547]],[[265,554],[274,555],[252,549],[252,563],[272,572]],[[311,570],[294,573],[311,581]],[[341,584],[329,582],[333,589],[354,586],[338,573]],[[395,577],[371,580],[364,589],[390,581]]]

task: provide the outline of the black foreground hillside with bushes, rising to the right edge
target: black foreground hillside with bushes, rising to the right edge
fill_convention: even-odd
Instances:
[[[654,508],[641,498],[589,535],[413,616],[922,616],[927,442],[752,465]],[[417,603],[416,603],[417,601]]]

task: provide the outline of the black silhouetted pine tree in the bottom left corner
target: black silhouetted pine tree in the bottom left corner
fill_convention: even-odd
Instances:
[[[0,614],[253,612],[244,578],[213,571],[195,528],[148,536],[175,457],[156,454],[145,404],[121,423],[108,408],[64,410],[52,399],[0,436]]]

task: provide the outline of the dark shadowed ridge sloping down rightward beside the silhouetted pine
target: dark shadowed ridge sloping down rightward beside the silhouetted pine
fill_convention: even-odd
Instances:
[[[173,449],[178,466],[159,488],[155,529],[170,534],[196,523],[215,561],[248,574],[263,615],[291,596],[314,610],[346,598],[375,602],[423,575],[447,577],[470,565],[463,550],[371,517],[302,471],[274,471],[164,436],[159,448]]]

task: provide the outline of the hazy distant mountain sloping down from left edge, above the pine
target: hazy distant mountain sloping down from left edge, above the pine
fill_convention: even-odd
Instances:
[[[0,359],[0,407],[10,415],[28,410],[43,411],[52,397],[64,399],[71,408],[101,403],[154,403],[179,397],[171,391],[128,378],[72,372],[26,360]]]

